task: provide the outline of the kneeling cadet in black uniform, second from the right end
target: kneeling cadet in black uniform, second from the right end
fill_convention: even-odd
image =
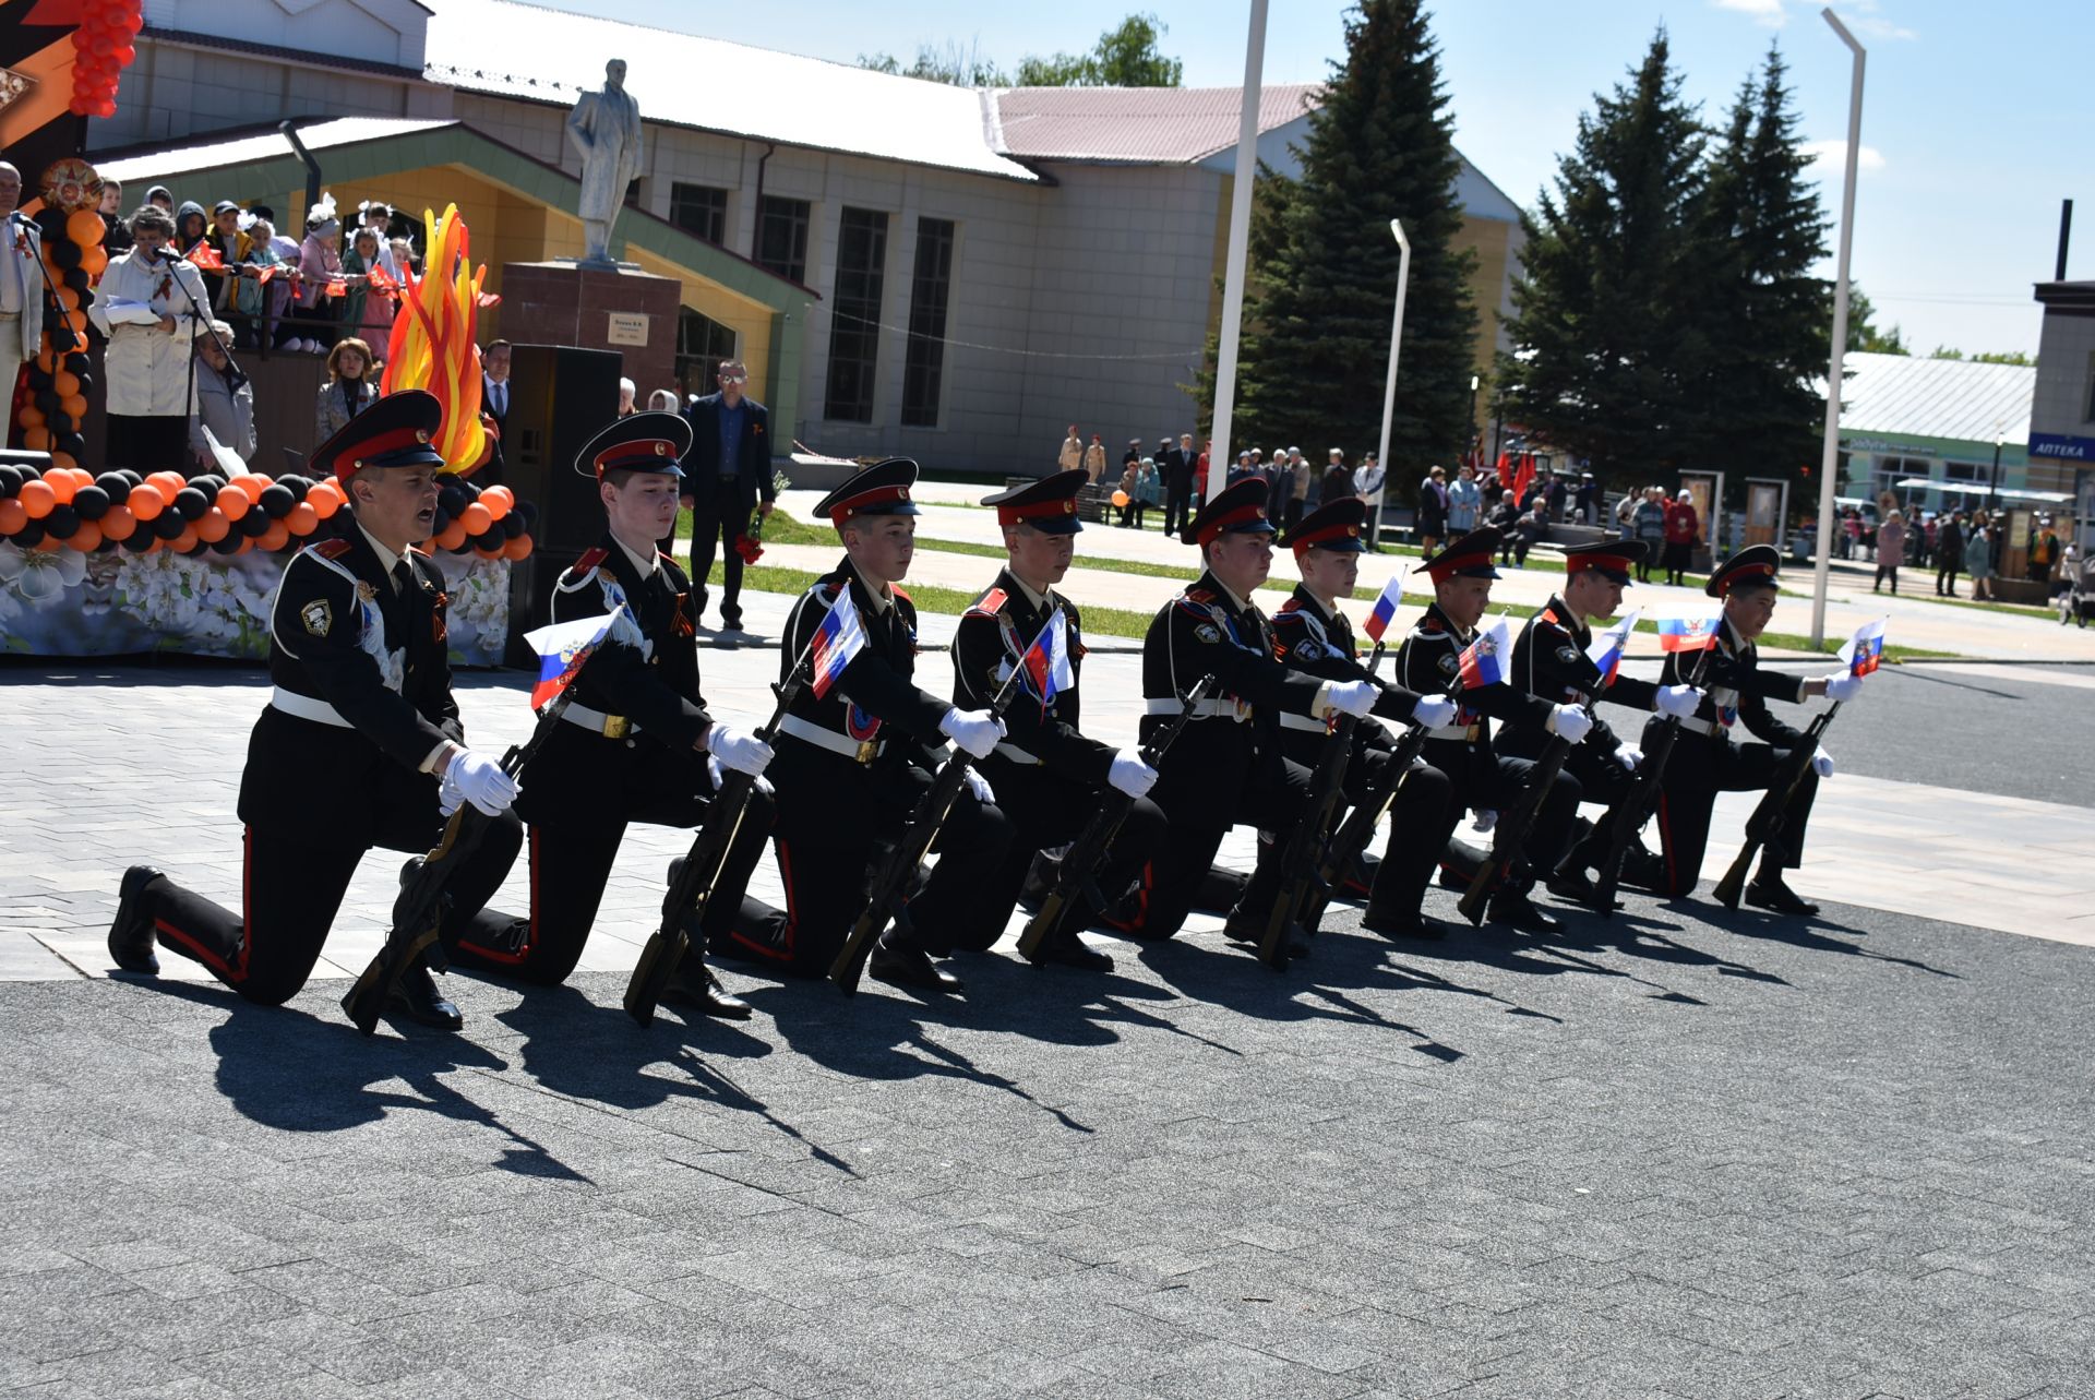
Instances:
[[[1552,704],[1580,704],[1592,713],[1601,700],[1632,710],[1659,715],[1693,715],[1701,692],[1693,685],[1653,685],[1630,675],[1601,675],[1586,654],[1592,648],[1592,622],[1607,622],[1622,612],[1622,591],[1630,587],[1630,570],[1645,557],[1642,541],[1598,541],[1565,549],[1565,589],[1552,593],[1542,612],[1527,618],[1513,643],[1513,683],[1529,696]],[[1548,729],[1529,717],[1506,721],[1498,746],[1521,759],[1540,759],[1548,746]],[[1613,807],[1634,788],[1632,773],[1642,750],[1624,744],[1598,715],[1592,734],[1565,759],[1565,771],[1580,782],[1580,801]],[[1594,828],[1571,847],[1548,878],[1552,895],[1590,899],[1588,868],[1607,859],[1607,826]],[[1632,851],[1624,872],[1632,884],[1647,884],[1655,870],[1649,851]]]

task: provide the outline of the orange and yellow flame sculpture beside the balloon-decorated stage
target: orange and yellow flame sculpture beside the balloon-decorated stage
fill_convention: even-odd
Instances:
[[[469,237],[459,205],[446,205],[444,218],[432,220],[423,210],[423,226],[432,228],[423,258],[423,277],[400,268],[400,314],[394,319],[392,342],[385,348],[381,392],[429,390],[444,404],[444,428],[432,446],[444,455],[444,472],[471,476],[494,451],[492,428],[480,415],[480,346],[476,321],[486,298],[480,283],[488,268],[476,268],[467,258]]]

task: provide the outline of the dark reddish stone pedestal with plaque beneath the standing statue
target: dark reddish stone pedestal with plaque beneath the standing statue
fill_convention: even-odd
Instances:
[[[503,264],[503,340],[520,346],[580,346],[624,356],[637,407],[654,390],[677,388],[677,312],[683,285],[670,277],[576,262]]]

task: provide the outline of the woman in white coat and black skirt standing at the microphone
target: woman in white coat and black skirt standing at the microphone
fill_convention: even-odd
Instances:
[[[132,249],[109,260],[88,312],[109,335],[109,465],[182,472],[197,411],[191,342],[210,333],[212,296],[195,264],[166,247],[174,237],[166,210],[149,203],[132,214],[130,235]]]

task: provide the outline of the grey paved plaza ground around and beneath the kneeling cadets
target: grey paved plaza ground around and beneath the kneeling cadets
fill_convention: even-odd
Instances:
[[[786,604],[704,652],[716,708],[758,713]],[[570,987],[455,975],[463,1035],[365,1042],[335,1002],[390,859],[289,1008],[107,977],[126,863],[235,897],[260,673],[10,664],[0,1392],[2085,1396],[2091,690],[1875,677],[1802,924],[1632,897],[1393,947],[1335,910],[1274,975],[1196,918],[1098,939],[1108,977],[1008,941],[941,1004],[729,972],[754,1021],[641,1031],[687,838],[635,828]],[[1125,740],[1135,658],[1085,698]],[[461,702],[528,727],[517,677]]]

